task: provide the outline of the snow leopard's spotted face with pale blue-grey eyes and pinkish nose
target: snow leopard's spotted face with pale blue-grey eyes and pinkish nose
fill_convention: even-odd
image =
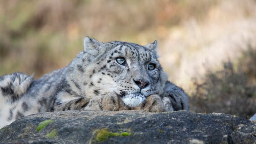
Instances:
[[[146,46],[119,41],[96,44],[98,54],[89,64],[88,83],[94,94],[114,92],[127,106],[137,107],[147,96],[161,93],[167,75],[157,60],[156,41]]]

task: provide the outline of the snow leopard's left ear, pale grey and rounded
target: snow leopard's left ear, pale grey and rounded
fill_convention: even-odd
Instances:
[[[103,43],[98,42],[96,39],[92,39],[87,36],[84,39],[84,51],[92,56],[97,56],[100,52],[102,44]]]

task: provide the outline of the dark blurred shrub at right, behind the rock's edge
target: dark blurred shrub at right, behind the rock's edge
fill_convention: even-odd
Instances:
[[[197,113],[229,113],[250,118],[256,108],[256,49],[249,45],[238,64],[228,61],[223,68],[208,70],[195,78],[191,110]],[[236,67],[236,68],[234,68]]]

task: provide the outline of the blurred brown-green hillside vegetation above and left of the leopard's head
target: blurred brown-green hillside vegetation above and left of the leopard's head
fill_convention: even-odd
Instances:
[[[82,50],[87,35],[140,44],[159,40],[163,28],[191,15],[200,19],[216,2],[2,0],[0,75],[22,71],[38,78],[62,68]]]

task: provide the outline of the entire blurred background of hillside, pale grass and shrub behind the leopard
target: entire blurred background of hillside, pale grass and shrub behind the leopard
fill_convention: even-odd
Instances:
[[[158,40],[160,63],[193,112],[256,112],[255,0],[2,0],[0,75],[63,68],[87,35]]]

